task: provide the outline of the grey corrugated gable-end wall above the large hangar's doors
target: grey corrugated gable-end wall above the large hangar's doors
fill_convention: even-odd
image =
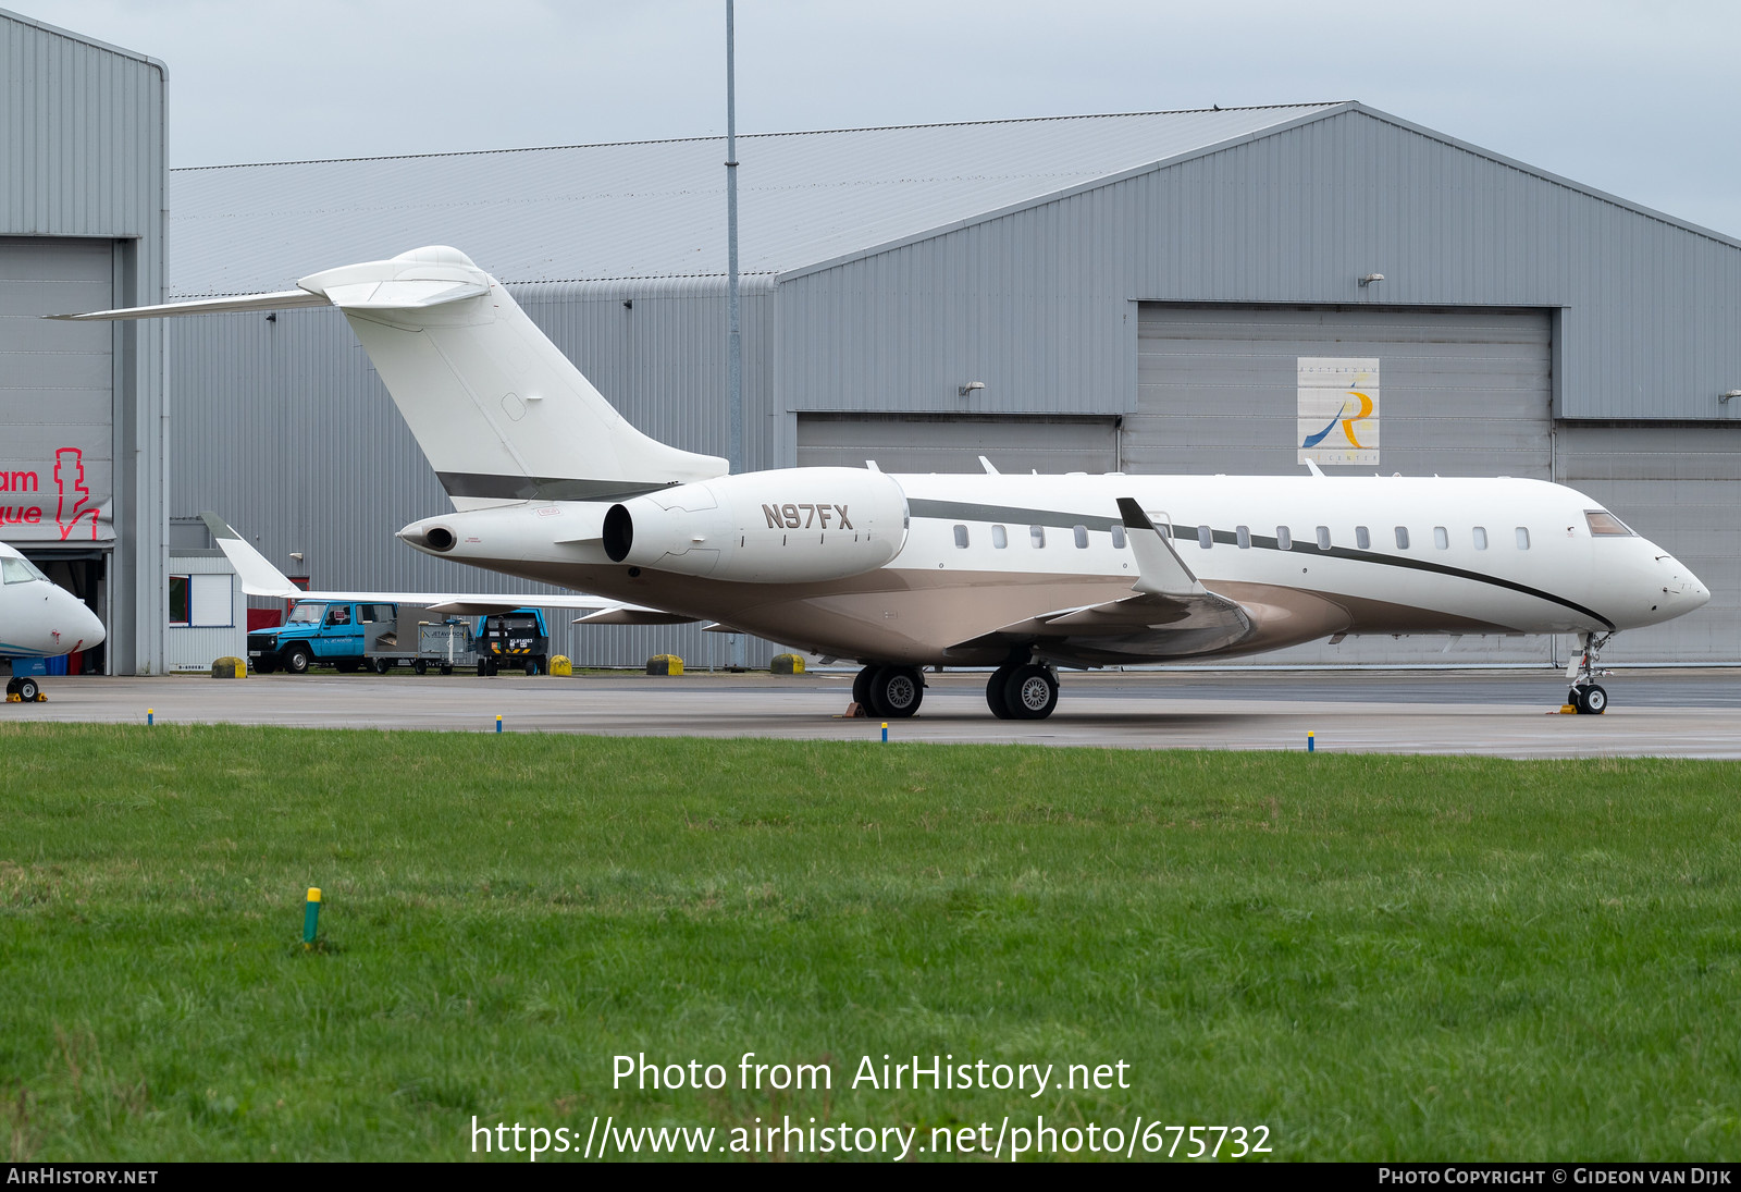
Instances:
[[[1368,110],[785,274],[776,394],[1125,413],[1132,298],[1562,308],[1560,417],[1741,422],[1741,246]]]

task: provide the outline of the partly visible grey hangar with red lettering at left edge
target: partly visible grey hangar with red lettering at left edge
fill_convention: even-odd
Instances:
[[[0,10],[0,538],[108,627],[56,667],[164,669],[164,331],[40,319],[164,301],[164,64]]]

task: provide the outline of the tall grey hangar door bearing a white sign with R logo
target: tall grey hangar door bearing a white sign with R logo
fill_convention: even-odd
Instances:
[[[1142,303],[1137,411],[1119,444],[1125,471],[1301,476],[1301,455],[1311,451],[1330,476],[1549,479],[1551,340],[1546,310]],[[1339,408],[1346,394],[1365,394],[1372,417],[1344,430],[1337,415],[1360,413],[1354,397]],[[1555,657],[1548,638],[1445,647],[1447,638],[1349,638],[1250,662]]]

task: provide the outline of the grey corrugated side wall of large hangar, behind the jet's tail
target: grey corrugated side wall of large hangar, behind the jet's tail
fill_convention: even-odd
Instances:
[[[528,315],[635,427],[691,451],[726,450],[723,279],[512,286]],[[630,301],[632,307],[623,303]],[[393,533],[451,509],[369,357],[336,310],[178,319],[172,512],[216,511],[286,573],[315,587],[554,591],[420,554]],[[745,286],[745,448],[770,455],[766,288]],[[298,563],[291,552],[301,552]],[[258,601],[270,603],[270,601]],[[554,650],[581,666],[677,654],[728,660],[700,626],[592,626],[552,617]],[[752,640],[749,659],[776,652]]]

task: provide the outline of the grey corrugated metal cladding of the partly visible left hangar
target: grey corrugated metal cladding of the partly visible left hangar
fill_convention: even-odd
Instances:
[[[89,237],[113,301],[164,300],[164,66],[0,12],[0,235]],[[167,434],[164,333],[115,324],[115,530],[108,666],[164,666]]]

